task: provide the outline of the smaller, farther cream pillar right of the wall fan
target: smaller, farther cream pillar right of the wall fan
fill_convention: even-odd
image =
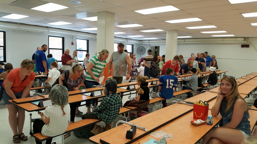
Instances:
[[[167,30],[165,61],[172,60],[177,55],[178,31]]]

